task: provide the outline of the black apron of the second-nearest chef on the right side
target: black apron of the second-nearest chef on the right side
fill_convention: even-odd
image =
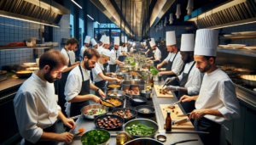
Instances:
[[[184,87],[184,86],[186,85],[186,83],[187,83],[187,81],[188,81],[188,79],[189,79],[189,73],[190,73],[190,71],[192,70],[192,68],[194,67],[194,65],[195,65],[195,62],[194,62],[194,64],[192,64],[192,66],[190,67],[188,74],[183,72],[183,80],[180,81],[180,85],[179,85],[179,86]],[[178,100],[179,100],[183,95],[189,95],[189,94],[188,94],[187,92],[181,92],[181,91],[179,91],[179,92],[178,92],[178,96],[177,96]],[[195,101],[194,101],[194,100],[192,100],[192,101],[190,101],[190,102],[185,102],[185,103],[182,103],[182,102],[181,102],[181,105],[183,106],[183,109],[184,109],[184,111],[185,111],[186,113],[190,113],[190,112],[192,112],[192,111],[195,109]]]

